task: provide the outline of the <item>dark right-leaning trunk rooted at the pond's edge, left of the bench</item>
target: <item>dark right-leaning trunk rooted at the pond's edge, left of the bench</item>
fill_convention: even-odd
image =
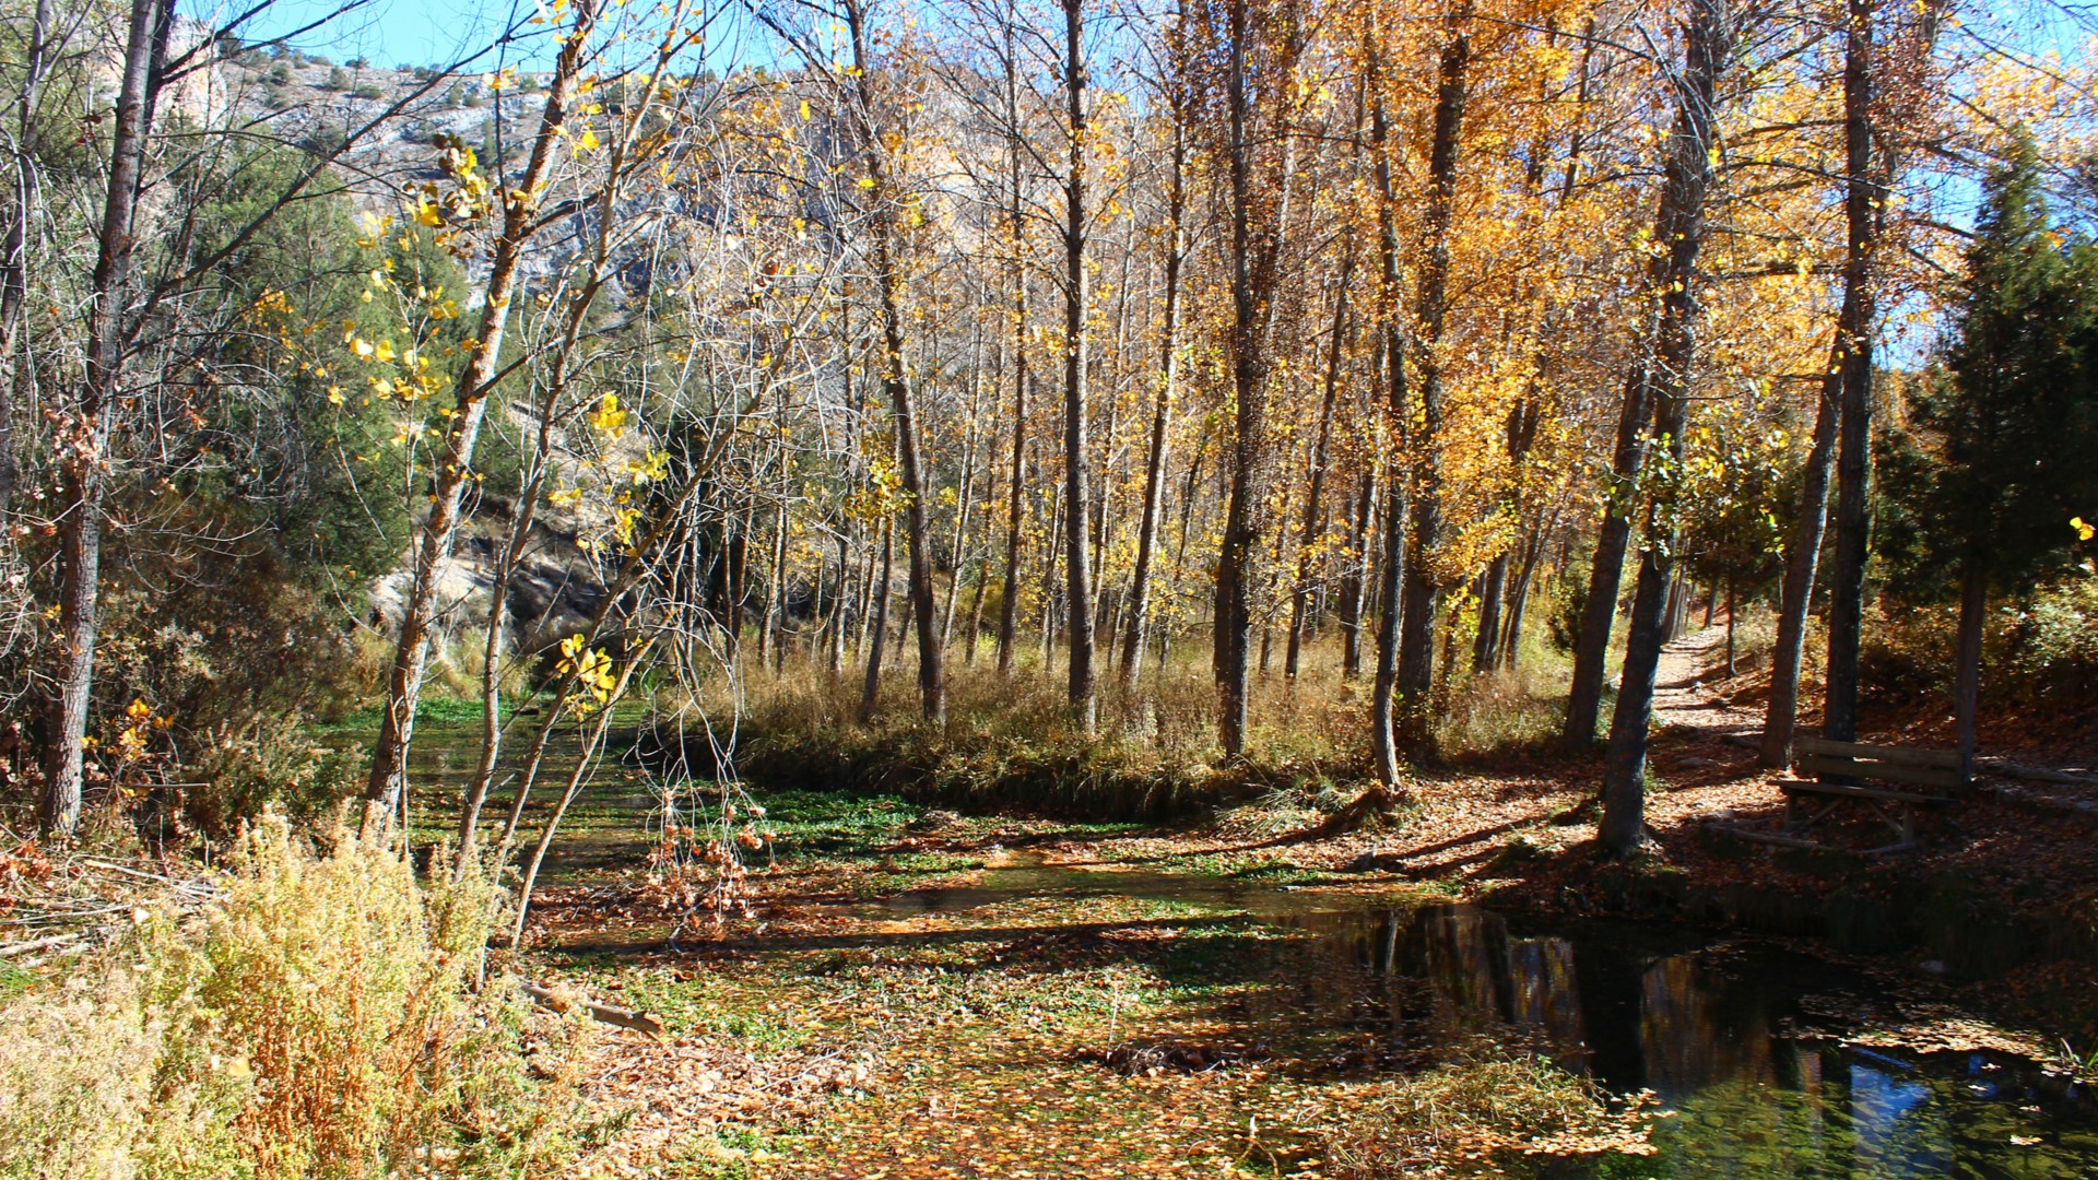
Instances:
[[[1668,252],[1655,258],[1655,279],[1647,298],[1660,300],[1657,365],[1653,365],[1655,426],[1674,460],[1683,458],[1689,422],[1689,378],[1697,361],[1697,252],[1706,237],[1706,193],[1712,187],[1716,118],[1714,92],[1733,38],[1729,0],[1691,0],[1676,82],[1676,126],[1670,134],[1662,181],[1655,241]],[[1624,680],[1603,758],[1601,844],[1626,855],[1645,844],[1647,726],[1653,722],[1653,676],[1662,657],[1664,611],[1674,580],[1676,504],[1655,491],[1647,500],[1647,546],[1639,561],[1639,590],[1632,598],[1632,628],[1624,649]]]

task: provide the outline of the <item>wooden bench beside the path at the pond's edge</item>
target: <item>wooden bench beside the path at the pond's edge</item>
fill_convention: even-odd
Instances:
[[[1894,829],[1892,844],[1867,855],[1915,848],[1915,808],[1945,806],[1966,794],[1968,768],[1955,750],[1909,750],[1800,737],[1794,768],[1815,779],[1779,779],[1785,825],[1804,831],[1846,802],[1871,806]]]

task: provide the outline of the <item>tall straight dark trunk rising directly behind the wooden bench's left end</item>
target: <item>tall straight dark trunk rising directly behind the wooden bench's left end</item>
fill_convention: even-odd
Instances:
[[[1844,36],[1844,304],[1842,420],[1836,454],[1836,552],[1829,569],[1829,657],[1821,733],[1857,739],[1857,659],[1865,628],[1865,561],[1871,544],[1871,334],[1878,315],[1871,252],[1882,187],[1871,183],[1871,19],[1876,0],[1848,0]]]

